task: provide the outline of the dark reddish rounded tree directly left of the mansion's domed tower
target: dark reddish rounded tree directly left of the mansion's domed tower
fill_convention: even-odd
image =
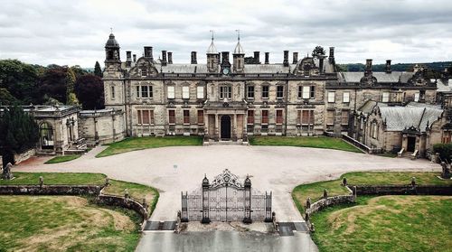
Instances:
[[[87,74],[77,79],[75,94],[83,109],[104,108],[104,84],[96,75]]]

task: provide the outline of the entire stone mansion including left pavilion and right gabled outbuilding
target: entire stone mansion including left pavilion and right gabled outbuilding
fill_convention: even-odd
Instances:
[[[206,45],[207,47],[207,45]],[[206,62],[173,63],[173,53],[153,47],[142,57],[105,44],[105,109],[26,107],[41,127],[40,151],[62,154],[125,136],[202,135],[204,143],[246,143],[250,135],[342,136],[369,153],[409,152],[428,156],[432,145],[451,140],[452,79],[428,79],[426,70],[382,72],[367,60],[363,72],[340,72],[334,47],[328,55],[298,58],[283,51],[245,57],[240,38],[230,57],[207,47]]]

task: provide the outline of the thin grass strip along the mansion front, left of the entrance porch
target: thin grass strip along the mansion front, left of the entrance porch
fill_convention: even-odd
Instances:
[[[108,148],[97,154],[96,157],[122,154],[148,148],[180,145],[202,145],[202,136],[129,137],[120,142],[109,144]]]

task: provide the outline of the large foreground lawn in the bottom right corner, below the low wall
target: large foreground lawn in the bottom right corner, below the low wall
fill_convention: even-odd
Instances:
[[[451,196],[358,197],[311,217],[320,251],[451,251]]]

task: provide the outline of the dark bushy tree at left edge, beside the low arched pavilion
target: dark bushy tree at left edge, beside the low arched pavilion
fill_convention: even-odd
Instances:
[[[38,125],[22,107],[5,107],[0,117],[0,132],[0,151],[7,157],[4,165],[14,163],[11,156],[34,148],[39,140]]]

